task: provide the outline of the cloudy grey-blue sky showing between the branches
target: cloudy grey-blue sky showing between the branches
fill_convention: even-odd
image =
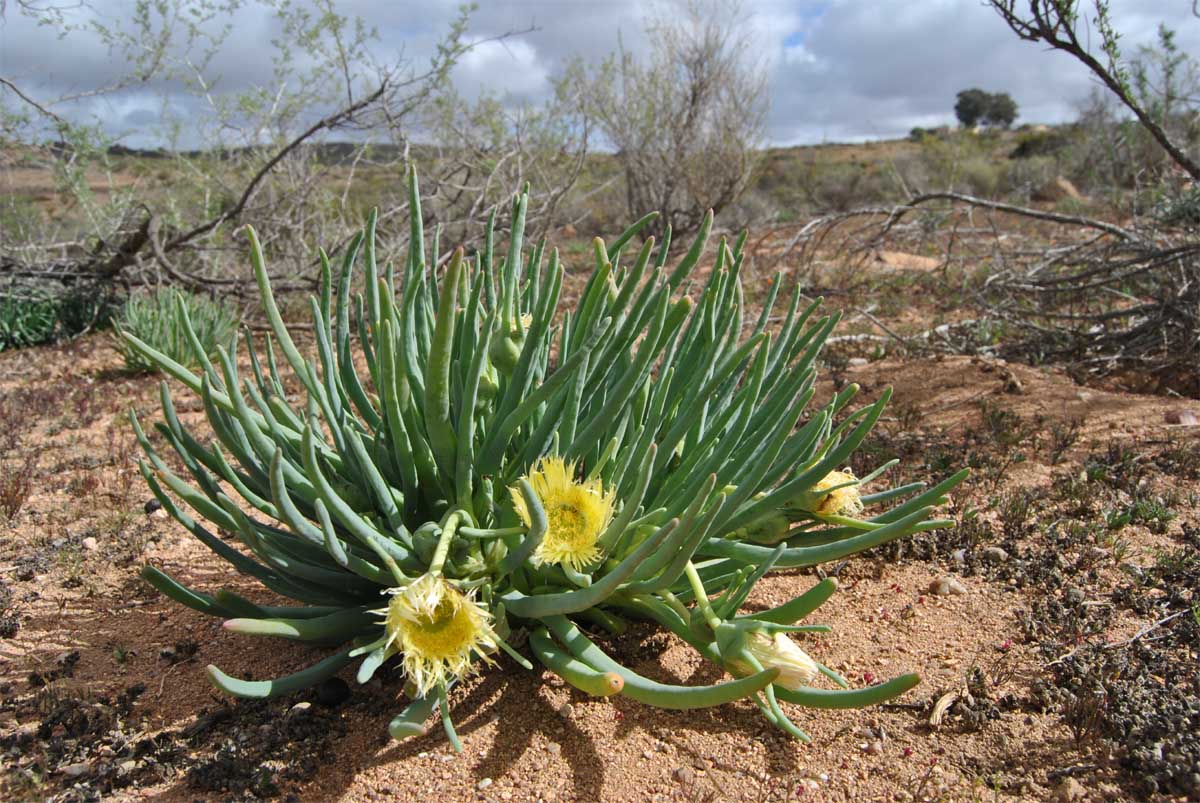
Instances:
[[[67,24],[94,14],[116,28],[133,4],[29,1],[64,4]],[[647,13],[655,2],[660,11],[670,10],[672,1],[482,0],[468,28],[468,37],[479,44],[455,68],[455,85],[467,97],[492,92],[510,104],[538,103],[575,56],[600,60],[618,42],[635,54],[644,52]],[[457,0],[338,0],[337,10],[377,29],[372,48],[380,58],[403,54],[425,64],[458,5]],[[1181,49],[1200,52],[1200,19],[1193,16],[1192,0],[1111,0],[1111,8],[1127,54],[1152,42],[1159,23],[1177,31]],[[952,124],[955,94],[972,86],[1012,95],[1019,122],[1062,122],[1076,116],[1097,86],[1070,56],[1020,41],[983,0],[745,0],[742,16],[749,53],[767,71],[767,138],[773,145],[893,138],[914,126]],[[228,37],[204,71],[210,94],[220,100],[252,88],[269,90],[269,43],[278,34],[271,13],[250,0],[229,22]],[[492,41],[508,31],[517,32]],[[176,44],[168,59],[184,64],[182,46]],[[302,55],[293,59],[304,62]],[[126,62],[96,36],[85,30],[64,35],[58,24],[37,25],[19,12],[17,0],[8,0],[0,20],[0,77],[30,96],[49,101],[88,92],[122,71]],[[6,92],[0,85],[0,96]],[[0,102],[16,106],[11,94]],[[148,146],[162,138],[156,124],[164,107],[184,124],[186,140],[190,122],[203,119],[205,102],[178,82],[166,80],[54,108],[68,119],[100,121],[130,146]]]

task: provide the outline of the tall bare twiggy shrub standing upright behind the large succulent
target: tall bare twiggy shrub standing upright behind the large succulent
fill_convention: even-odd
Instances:
[[[742,194],[767,95],[737,2],[690,0],[677,11],[648,24],[644,60],[622,47],[598,68],[574,65],[565,83],[617,150],[628,212],[658,210],[655,230],[670,224],[678,234]]]

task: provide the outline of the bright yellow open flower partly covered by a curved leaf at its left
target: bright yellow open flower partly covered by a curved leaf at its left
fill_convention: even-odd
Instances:
[[[575,465],[542,457],[529,471],[529,484],[546,510],[547,529],[534,550],[535,564],[565,564],[576,571],[600,557],[596,540],[612,521],[612,492],[600,480],[575,481]],[[511,487],[512,507],[526,527],[529,509],[520,489]]]

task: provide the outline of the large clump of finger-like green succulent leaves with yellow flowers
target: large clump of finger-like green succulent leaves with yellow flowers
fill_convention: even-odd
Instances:
[[[544,242],[526,248],[524,194],[514,200],[506,254],[490,223],[480,252],[460,248],[438,270],[430,259],[438,238],[427,252],[415,174],[409,181],[412,238],[400,276],[377,263],[374,217],[336,277],[322,253],[312,359],[284,326],[253,230],[274,337],[265,348],[246,338],[251,376],[224,349],[212,362],[182,307],[198,373],[124,335],[200,396],[215,436],[206,445],[182,427],[163,383],[156,426],[191,480],[156,454],[134,418],[150,489],[205,546],[296,605],[194,591],[152,567],[143,576],[234,633],[334,649],[274,681],[210,666],[220,689],[287,694],[352,663],[366,682],[395,659],[412,701],[391,721],[392,736],[425,732],[440,708],[457,748],[448,690],[499,652],[532,669],[514,646],[518,636],[534,660],[584,693],[666,708],[745,697],[799,738],[780,701],[857,707],[917,683],[904,675],[851,690],[800,649],[790,634],[828,630],[797,622],[830,597],[832,579],[778,607],[740,612],[768,571],[948,525],[931,509],[965,477],[860,495],[890,463],[863,478],[839,468],[888,394],[847,413],[850,385],[809,409],[836,316],[817,317],[818,305],[802,305],[797,289],[768,332],[780,320],[775,281],[748,318],[745,236],[721,239],[712,271],[692,283],[710,215],[673,266],[670,230],[661,244],[635,247],[653,216],[611,244],[596,239],[595,269],[578,302],[560,311],[565,268]],[[359,263],[362,293],[354,294]],[[586,633],[619,631],[630,618],[656,622],[733,677],[658,683]],[[812,685],[818,675],[842,688]]]

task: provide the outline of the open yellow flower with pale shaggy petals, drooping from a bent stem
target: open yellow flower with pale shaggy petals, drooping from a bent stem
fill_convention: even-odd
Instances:
[[[442,577],[426,574],[391,588],[384,615],[389,654],[403,654],[404,673],[420,695],[470,672],[470,654],[497,649],[491,613]]]

